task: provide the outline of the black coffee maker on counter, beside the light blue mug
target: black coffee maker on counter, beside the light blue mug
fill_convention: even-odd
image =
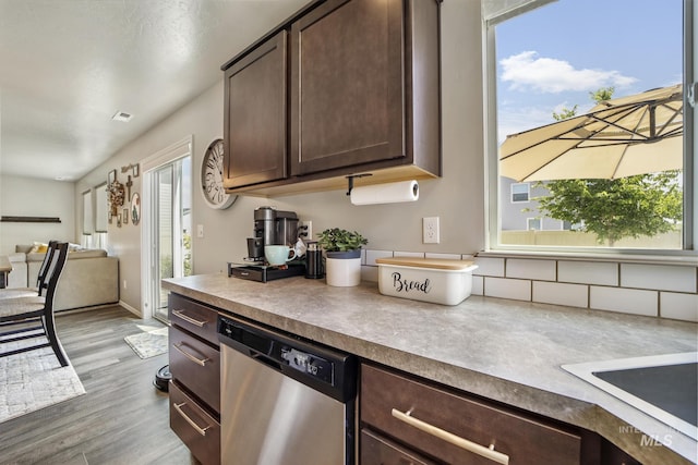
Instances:
[[[248,261],[264,261],[265,245],[288,245],[298,241],[298,216],[294,211],[260,207],[254,210],[254,237],[248,237]]]

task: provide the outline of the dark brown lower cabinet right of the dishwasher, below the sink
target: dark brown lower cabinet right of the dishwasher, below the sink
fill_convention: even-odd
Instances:
[[[361,465],[638,464],[597,433],[363,364]]]

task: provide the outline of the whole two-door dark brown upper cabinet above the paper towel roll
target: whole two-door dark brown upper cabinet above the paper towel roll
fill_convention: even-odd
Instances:
[[[440,176],[438,15],[438,0],[316,1],[224,65],[228,191]]]

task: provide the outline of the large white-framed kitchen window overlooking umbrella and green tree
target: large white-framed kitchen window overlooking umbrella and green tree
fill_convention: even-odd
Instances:
[[[684,7],[690,9],[693,2],[481,3],[486,27],[486,126],[492,129],[486,136],[489,179],[490,185],[498,186],[489,193],[489,204],[496,206],[489,211],[490,248],[694,249],[693,109],[683,109],[683,86],[694,74],[694,47],[685,44],[693,37],[693,22],[684,19],[693,13],[684,12]],[[604,19],[613,26],[599,33],[599,21]],[[671,98],[664,98],[664,91]],[[657,108],[652,112],[659,114],[673,106],[674,115],[666,125],[650,131],[649,123],[641,123],[633,134],[617,130],[622,124],[612,119],[615,115],[601,113],[609,100],[622,106],[637,98],[640,108],[650,95],[662,97],[657,106],[642,107],[648,114],[650,108]],[[624,162],[619,162],[611,171],[600,170],[616,147],[600,150],[598,146],[606,140],[586,140],[597,131],[581,126],[582,117],[592,111],[594,121],[606,121],[605,139],[628,148],[626,154],[642,148],[633,168],[623,171]],[[638,143],[641,137],[654,137],[653,144]],[[581,150],[569,158],[563,155],[585,144],[597,146],[583,151],[586,158]],[[525,152],[534,156],[524,159],[519,155]],[[673,155],[672,161],[659,163],[658,152]],[[642,198],[628,201],[629,193]],[[527,205],[513,205],[524,203]],[[597,221],[602,215],[618,220]],[[638,221],[645,218],[659,221]],[[550,242],[537,240],[535,246],[527,245],[533,242],[521,227],[545,230]]]

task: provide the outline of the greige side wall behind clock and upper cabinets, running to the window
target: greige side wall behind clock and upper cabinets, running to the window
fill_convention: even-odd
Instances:
[[[124,147],[108,162],[76,183],[81,193],[101,182],[107,172],[142,160],[193,135],[194,198],[192,224],[203,224],[204,238],[193,237],[195,273],[225,272],[228,261],[246,255],[256,207],[273,205],[313,221],[313,229],[339,227],[361,231],[372,249],[472,254],[484,245],[482,68],[479,2],[442,5],[443,178],[420,182],[414,204],[352,206],[345,191],[264,199],[240,197],[227,210],[206,206],[198,187],[203,154],[222,137],[221,81],[148,133]],[[125,176],[120,173],[119,181]],[[133,189],[141,192],[141,179]],[[75,196],[80,211],[82,199]],[[147,215],[144,212],[144,215]],[[421,243],[422,217],[441,218],[441,244]],[[121,301],[141,309],[141,227],[109,228],[110,253],[120,259]],[[127,280],[127,289],[123,289]]]

